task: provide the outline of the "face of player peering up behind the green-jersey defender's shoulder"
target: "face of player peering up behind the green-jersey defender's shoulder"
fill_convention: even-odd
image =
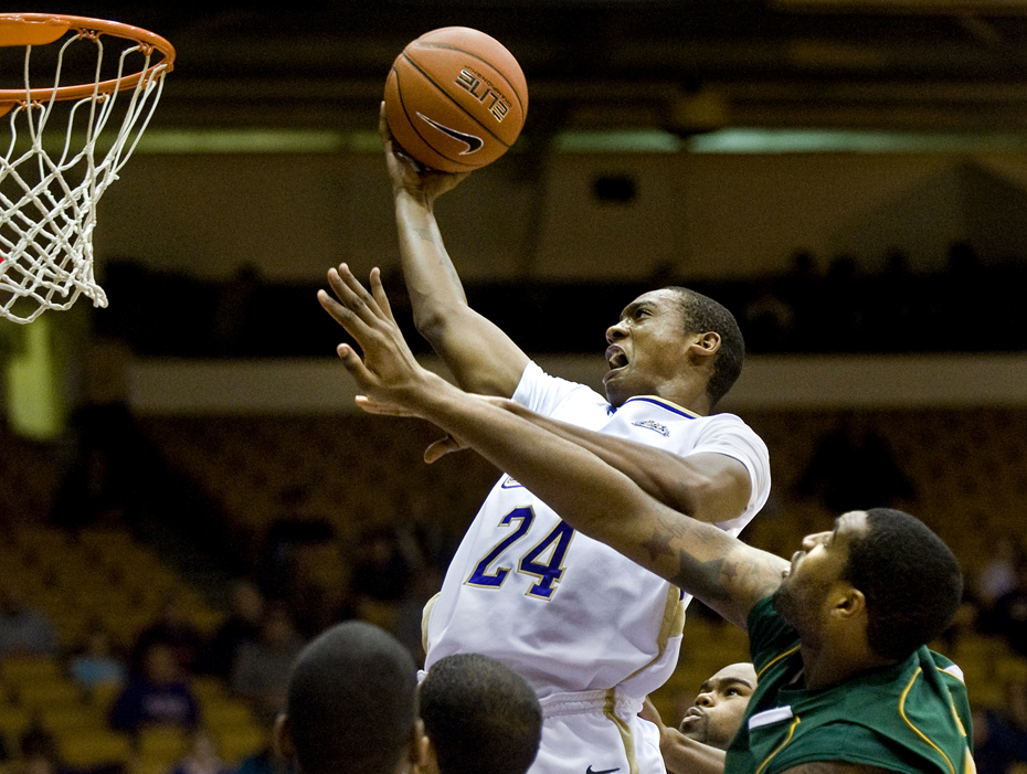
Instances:
[[[697,742],[727,750],[738,733],[756,687],[756,670],[751,664],[732,664],[713,675],[699,688],[699,696],[678,730]]]

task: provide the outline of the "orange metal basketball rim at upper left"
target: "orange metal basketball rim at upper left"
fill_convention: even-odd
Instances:
[[[94,93],[112,94],[114,92],[135,88],[145,77],[162,68],[170,73],[174,63],[174,47],[160,35],[153,34],[131,24],[102,19],[87,19],[85,17],[70,17],[62,13],[0,13],[0,46],[14,45],[44,45],[57,41],[65,33],[74,31],[85,38],[95,38],[102,34],[135,41],[145,54],[158,51],[163,59],[142,72],[126,75],[99,83],[87,83],[80,86],[60,86],[32,88],[0,88],[0,116],[14,105],[27,103],[42,103],[51,99],[82,99]]]

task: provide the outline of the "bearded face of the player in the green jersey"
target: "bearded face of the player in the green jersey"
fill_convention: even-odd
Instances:
[[[774,607],[802,637],[815,636],[832,589],[844,582],[849,543],[866,530],[866,511],[843,513],[833,531],[807,534],[802,550],[792,555],[792,566],[774,593]]]

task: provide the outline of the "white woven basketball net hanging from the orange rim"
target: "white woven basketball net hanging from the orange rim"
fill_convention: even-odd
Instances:
[[[118,86],[146,71],[124,92],[98,88],[105,40],[129,46],[113,54],[118,56]],[[170,70],[150,70],[155,51],[136,41],[73,31],[61,44],[54,87],[63,85],[61,71],[72,45],[96,47],[92,94],[66,100],[28,98],[32,46],[27,45],[27,98],[0,119],[11,132],[10,145],[0,148],[0,317],[15,322],[31,322],[46,309],[67,309],[80,294],[94,306],[107,306],[93,277],[96,203],[136,149]],[[108,125],[110,131],[103,135]],[[98,145],[102,135],[107,147]]]

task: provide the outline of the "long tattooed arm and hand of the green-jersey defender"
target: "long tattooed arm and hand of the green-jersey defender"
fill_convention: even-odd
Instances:
[[[346,266],[329,273],[338,300],[318,299],[363,350],[339,357],[361,391],[460,438],[546,500],[575,529],[695,594],[745,627],[752,606],[773,592],[785,560],[664,506],[592,452],[490,402],[468,395],[417,364],[403,340],[377,269],[371,293]]]

